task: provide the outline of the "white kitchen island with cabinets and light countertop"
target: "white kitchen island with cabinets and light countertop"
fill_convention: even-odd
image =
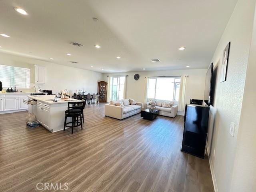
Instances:
[[[63,130],[68,102],[80,101],[76,99],[62,99],[54,102],[54,97],[55,95],[28,96],[29,112],[34,113],[38,122],[50,132]],[[71,118],[67,118],[67,122],[70,121]]]

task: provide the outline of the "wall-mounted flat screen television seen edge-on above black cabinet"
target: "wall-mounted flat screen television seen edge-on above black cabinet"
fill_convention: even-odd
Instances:
[[[208,106],[212,104],[212,72],[213,63],[210,64],[205,77],[204,102]]]

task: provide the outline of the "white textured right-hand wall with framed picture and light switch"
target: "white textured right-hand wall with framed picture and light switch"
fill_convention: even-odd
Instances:
[[[218,66],[218,78],[214,107],[210,108],[208,148],[210,148],[212,174],[215,177],[214,184],[219,192],[234,191],[230,188],[238,131],[240,130],[240,115],[252,37],[254,9],[255,0],[238,0],[212,58],[214,67]],[[227,80],[220,83],[223,50],[229,41],[231,45]],[[230,122],[236,124],[234,137],[229,134]],[[213,156],[214,150],[215,156]],[[237,191],[244,192],[244,190]]]

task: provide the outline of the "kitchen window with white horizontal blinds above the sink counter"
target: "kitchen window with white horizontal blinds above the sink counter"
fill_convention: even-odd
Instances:
[[[30,89],[30,69],[0,65],[0,81],[4,88]]]

